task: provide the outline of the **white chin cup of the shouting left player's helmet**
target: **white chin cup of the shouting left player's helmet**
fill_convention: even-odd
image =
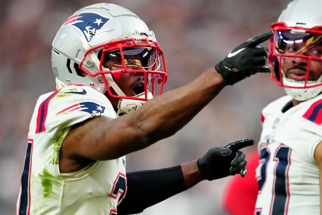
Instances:
[[[132,97],[145,98],[145,93],[143,92]],[[148,90],[147,99],[152,99],[152,98],[153,98],[153,95]],[[118,116],[136,111],[139,107],[141,107],[146,102],[147,101],[134,100],[134,99],[120,99],[118,101]]]

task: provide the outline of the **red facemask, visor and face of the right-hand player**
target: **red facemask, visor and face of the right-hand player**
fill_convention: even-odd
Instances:
[[[322,34],[314,29],[273,23],[269,63],[271,79],[288,88],[322,85]]]

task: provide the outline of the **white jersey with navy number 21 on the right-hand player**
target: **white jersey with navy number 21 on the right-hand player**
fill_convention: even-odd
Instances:
[[[291,100],[284,96],[262,111],[255,215],[320,214],[314,151],[322,141],[322,95],[282,112]]]

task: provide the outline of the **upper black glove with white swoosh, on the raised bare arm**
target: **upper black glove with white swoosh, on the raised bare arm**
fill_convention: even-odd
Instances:
[[[255,73],[270,73],[266,65],[268,50],[258,44],[270,39],[273,32],[267,32],[247,40],[234,48],[225,59],[215,66],[224,82],[234,84]]]

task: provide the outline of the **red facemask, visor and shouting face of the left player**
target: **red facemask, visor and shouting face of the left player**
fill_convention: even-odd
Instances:
[[[98,53],[98,65],[87,66],[93,53]],[[79,68],[90,76],[102,75],[109,95],[122,99],[147,101],[147,92],[153,96],[162,93],[167,77],[163,51],[148,39],[140,43],[134,38],[114,40],[93,47]],[[146,96],[136,96],[141,93]]]

